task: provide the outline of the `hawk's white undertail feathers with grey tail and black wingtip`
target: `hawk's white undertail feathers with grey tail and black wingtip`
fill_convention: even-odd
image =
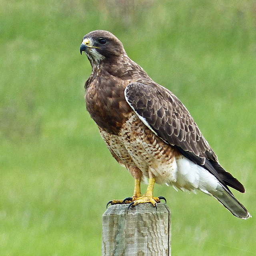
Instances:
[[[228,186],[244,192],[244,186],[220,165],[218,172],[212,164],[206,160],[207,166],[200,166],[187,158],[178,158],[176,182],[170,180],[171,185],[181,190],[201,190],[206,194],[212,194],[237,218],[247,219],[251,217],[246,208],[234,197]],[[207,167],[207,168],[206,168]]]

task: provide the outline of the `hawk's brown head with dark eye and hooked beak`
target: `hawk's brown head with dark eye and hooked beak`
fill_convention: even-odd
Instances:
[[[95,30],[84,36],[80,53],[85,52],[90,62],[100,62],[125,53],[120,40],[105,30]]]

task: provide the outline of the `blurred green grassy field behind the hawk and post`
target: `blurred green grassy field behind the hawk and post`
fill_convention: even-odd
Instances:
[[[1,0],[0,255],[101,255],[106,202],[132,195],[85,108],[79,47],[96,29],[182,100],[246,187],[234,194],[253,218],[239,220],[203,193],[156,185],[172,255],[255,255],[256,4],[245,0]]]

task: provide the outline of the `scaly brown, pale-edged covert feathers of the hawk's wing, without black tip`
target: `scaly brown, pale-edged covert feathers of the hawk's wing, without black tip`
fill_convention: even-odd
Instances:
[[[126,87],[125,97],[137,115],[164,141],[201,158],[198,164],[204,162],[206,151],[217,161],[192,116],[172,92],[158,84],[132,83]]]

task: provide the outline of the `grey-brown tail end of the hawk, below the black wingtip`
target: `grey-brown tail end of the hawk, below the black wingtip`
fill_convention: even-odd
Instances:
[[[221,188],[211,194],[219,200],[234,216],[241,219],[252,217],[248,210],[234,197],[234,195],[221,185]]]

